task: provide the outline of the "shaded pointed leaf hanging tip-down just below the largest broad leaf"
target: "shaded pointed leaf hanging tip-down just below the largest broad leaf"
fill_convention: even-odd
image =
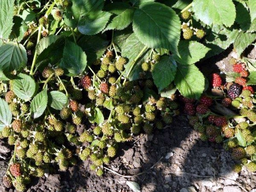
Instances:
[[[176,70],[177,64],[175,60],[167,55],[162,56],[160,61],[154,65],[152,76],[159,91],[172,83],[175,78]]]

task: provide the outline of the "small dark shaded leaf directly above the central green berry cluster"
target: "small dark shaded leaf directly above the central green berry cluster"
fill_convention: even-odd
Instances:
[[[109,41],[103,38],[93,35],[93,36],[83,36],[77,44],[83,49],[87,55],[87,63],[90,65],[98,58],[101,58],[106,50]]]

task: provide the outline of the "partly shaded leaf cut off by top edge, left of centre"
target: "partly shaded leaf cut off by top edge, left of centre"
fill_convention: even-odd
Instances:
[[[76,28],[78,21],[83,15],[90,15],[101,11],[104,6],[104,0],[71,0],[72,6],[67,7],[64,13],[64,23],[68,27]]]

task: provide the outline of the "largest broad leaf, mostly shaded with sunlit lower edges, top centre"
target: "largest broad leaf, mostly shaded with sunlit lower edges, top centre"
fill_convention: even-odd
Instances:
[[[148,47],[165,48],[177,53],[180,19],[170,7],[155,2],[143,3],[134,12],[133,30]]]

